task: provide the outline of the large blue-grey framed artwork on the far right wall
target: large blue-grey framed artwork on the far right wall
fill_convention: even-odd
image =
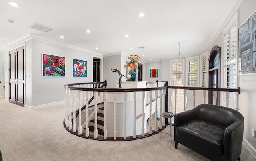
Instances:
[[[238,28],[239,74],[256,74],[256,12]]]

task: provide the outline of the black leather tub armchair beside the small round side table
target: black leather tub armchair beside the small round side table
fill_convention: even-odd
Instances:
[[[174,115],[174,142],[213,161],[240,160],[244,117],[222,106],[201,104]]]

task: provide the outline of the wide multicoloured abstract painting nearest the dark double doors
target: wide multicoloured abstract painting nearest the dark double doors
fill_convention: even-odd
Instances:
[[[42,77],[65,77],[65,57],[42,54]]]

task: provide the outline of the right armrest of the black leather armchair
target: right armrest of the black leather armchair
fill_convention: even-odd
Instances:
[[[224,131],[223,136],[223,155],[230,158],[230,160],[236,160],[242,149],[244,134],[244,120],[237,119],[233,124],[228,126]],[[237,154],[238,156],[231,156],[231,154]]]

